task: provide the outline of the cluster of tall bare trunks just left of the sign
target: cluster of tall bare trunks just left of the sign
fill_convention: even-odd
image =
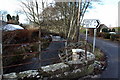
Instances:
[[[66,26],[67,39],[79,40],[80,24],[89,3],[87,0],[79,0],[79,2],[57,2],[55,4],[61,14],[63,25]]]

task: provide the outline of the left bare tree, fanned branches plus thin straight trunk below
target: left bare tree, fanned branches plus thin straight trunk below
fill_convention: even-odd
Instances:
[[[41,66],[41,24],[44,22],[44,14],[41,12],[44,9],[45,2],[42,0],[26,0],[21,1],[23,12],[26,14],[28,20],[39,27],[39,60]]]

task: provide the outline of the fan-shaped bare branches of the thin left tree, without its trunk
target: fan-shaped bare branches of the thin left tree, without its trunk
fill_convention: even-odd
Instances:
[[[42,16],[40,16],[43,6],[43,1],[38,2],[39,0],[25,0],[21,1],[21,7],[23,12],[26,14],[27,19],[37,25],[42,23]],[[41,22],[41,23],[40,23]]]

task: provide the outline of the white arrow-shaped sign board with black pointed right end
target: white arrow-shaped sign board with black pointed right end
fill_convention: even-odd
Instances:
[[[84,19],[83,26],[85,28],[98,28],[100,21],[98,19]]]

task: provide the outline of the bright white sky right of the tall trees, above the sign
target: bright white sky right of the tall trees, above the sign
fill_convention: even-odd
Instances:
[[[93,2],[95,8],[88,9],[89,12],[85,13],[85,19],[99,19],[101,24],[108,27],[118,26],[118,2],[119,0],[102,0],[98,4]]]

